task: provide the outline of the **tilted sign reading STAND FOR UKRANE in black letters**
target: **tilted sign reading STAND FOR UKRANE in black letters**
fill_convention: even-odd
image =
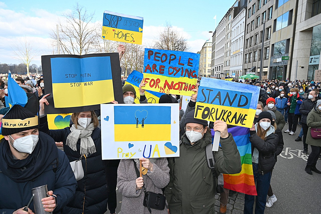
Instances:
[[[254,85],[202,77],[194,117],[251,128],[259,94]]]

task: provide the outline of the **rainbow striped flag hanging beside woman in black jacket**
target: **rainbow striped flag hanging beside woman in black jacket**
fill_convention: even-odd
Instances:
[[[213,129],[211,130],[212,138],[214,138],[215,132]],[[228,132],[232,134],[238,147],[242,170],[238,174],[223,174],[224,188],[248,195],[257,195],[252,168],[251,142],[249,140],[250,129],[235,126],[228,129]]]

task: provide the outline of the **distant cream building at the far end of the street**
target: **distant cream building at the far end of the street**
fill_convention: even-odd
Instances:
[[[206,40],[200,51],[200,67],[199,76],[211,76],[211,61],[212,61],[212,42]]]

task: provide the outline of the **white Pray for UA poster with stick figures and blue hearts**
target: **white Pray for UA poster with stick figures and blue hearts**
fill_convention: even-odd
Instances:
[[[179,104],[101,104],[102,159],[179,157]]]

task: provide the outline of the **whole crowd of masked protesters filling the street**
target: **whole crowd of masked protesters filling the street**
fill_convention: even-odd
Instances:
[[[121,58],[125,53],[124,46],[118,47],[118,53]],[[0,189],[5,192],[4,197],[0,197],[0,213],[33,214],[34,204],[26,207],[31,189],[45,184],[48,197],[42,199],[43,209],[52,213],[103,214],[108,208],[114,214],[117,187],[123,196],[122,214],[214,213],[217,193],[220,194],[220,213],[226,213],[230,190],[217,187],[220,174],[238,174],[242,170],[239,150],[230,133],[231,129],[239,127],[222,120],[209,123],[194,118],[198,87],[193,89],[187,108],[178,110],[179,157],[102,160],[100,109],[74,112],[69,127],[50,130],[44,111],[45,106],[50,105],[49,94],[45,94],[42,76],[14,76],[14,81],[27,94],[35,94],[38,98],[37,116],[18,104],[11,108],[6,106],[8,78],[7,75],[0,76],[3,136],[0,141]],[[124,85],[126,77],[122,81],[124,103],[133,104],[137,96],[140,103],[147,103],[143,81],[139,85],[140,94],[136,94],[132,85]],[[263,214],[265,207],[271,207],[277,201],[270,180],[277,156],[283,149],[283,134],[295,135],[298,124],[302,126],[302,134],[293,139],[303,139],[305,154],[309,154],[308,145],[311,149],[305,171],[311,175],[312,172],[321,174],[316,168],[321,153],[321,138],[317,135],[321,127],[321,84],[305,80],[250,80],[242,84],[261,88],[247,140],[252,145],[257,192],[255,213]],[[114,100],[110,103],[118,104]],[[180,103],[181,108],[182,99],[179,95],[163,94],[159,103]],[[27,125],[8,126],[17,121]],[[213,154],[212,130],[220,132],[221,144]],[[208,162],[209,154],[213,155],[211,163]],[[77,180],[69,164],[74,161],[80,161],[83,170],[83,176]],[[145,169],[142,176],[138,173],[140,161]],[[146,190],[165,196],[165,207],[151,208],[145,200]],[[254,201],[255,196],[245,195],[245,214],[253,213]]]

